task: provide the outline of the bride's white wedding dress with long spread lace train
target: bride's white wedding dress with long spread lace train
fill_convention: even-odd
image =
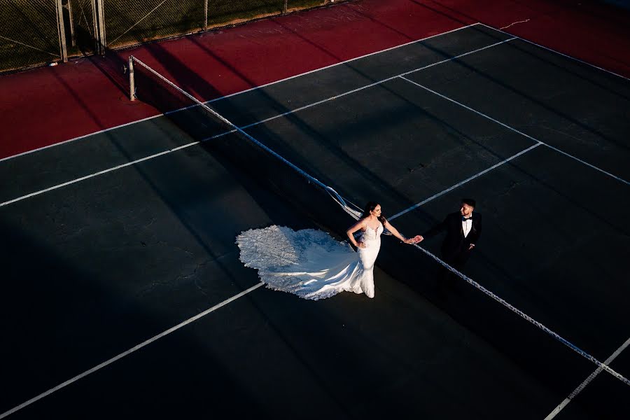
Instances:
[[[361,232],[365,248],[353,251],[321,230],[283,226],[252,229],[236,243],[246,267],[258,269],[268,288],[304,299],[325,299],[342,291],[374,297],[374,261],[381,248],[383,225]]]

